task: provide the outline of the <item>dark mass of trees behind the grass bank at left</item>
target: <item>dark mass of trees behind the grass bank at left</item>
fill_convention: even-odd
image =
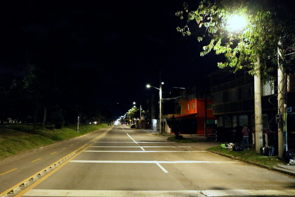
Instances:
[[[64,124],[78,121],[98,123],[111,120],[108,106],[99,103],[99,72],[89,67],[71,67],[48,61],[30,61],[23,80],[13,80],[0,88],[1,124]]]

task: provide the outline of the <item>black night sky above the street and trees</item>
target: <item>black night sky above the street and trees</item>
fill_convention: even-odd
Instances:
[[[163,91],[204,86],[206,75],[217,69],[217,56],[200,57],[205,44],[196,39],[196,24],[190,24],[191,36],[177,33],[177,26],[185,24],[175,16],[182,3],[0,1],[0,87],[25,76],[32,51],[47,54],[60,65],[93,70],[97,83],[89,84],[89,89],[100,93],[97,102],[117,105],[119,113],[139,102],[141,94],[156,91],[146,90],[146,84],[158,87],[160,70]],[[188,4],[197,8],[198,0]],[[115,114],[123,115],[119,113]]]

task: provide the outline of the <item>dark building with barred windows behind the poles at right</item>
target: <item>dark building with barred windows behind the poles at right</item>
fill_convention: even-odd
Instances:
[[[217,70],[208,75],[211,79],[212,113],[217,118],[219,133],[232,133],[227,135],[228,140],[234,140],[235,132],[244,124],[255,132],[254,116],[254,77],[246,70],[230,72],[229,70]],[[275,76],[275,74],[274,74]],[[292,137],[295,131],[294,112],[295,107],[295,75],[286,74],[285,102],[288,106],[288,133]],[[275,80],[262,80],[262,121],[264,132],[264,145],[277,145],[277,82]],[[231,131],[231,132],[230,132]],[[227,140],[227,141],[228,141]],[[241,140],[241,138],[236,138]],[[294,142],[292,142],[294,143]],[[290,142],[291,145],[291,142]]]

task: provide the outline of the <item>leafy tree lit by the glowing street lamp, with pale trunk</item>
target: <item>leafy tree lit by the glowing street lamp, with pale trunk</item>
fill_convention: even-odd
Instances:
[[[287,20],[284,19],[284,14],[282,12],[277,14],[279,3],[279,1],[271,0],[255,2],[253,0],[215,0],[212,3],[202,0],[197,10],[188,12],[188,5],[184,2],[184,11],[176,13],[181,19],[183,19],[183,13],[187,13],[188,22],[193,20],[197,22],[204,33],[198,37],[199,41],[209,37],[209,44],[203,47],[201,56],[205,56],[213,49],[217,55],[223,53],[227,59],[226,62],[217,64],[219,68],[231,67],[233,71],[236,71],[247,66],[249,74],[254,75],[257,152],[263,145],[261,77],[271,78],[268,72],[272,70],[272,67],[269,67],[267,63],[273,58],[278,57],[276,64],[279,67],[281,66],[279,62],[284,61],[284,55],[278,56],[278,43],[284,42],[285,49],[292,48],[295,43],[294,20],[291,20],[293,24],[291,28],[286,25]],[[292,12],[288,13],[289,16],[291,15],[290,18],[294,19],[290,13]],[[235,15],[244,18],[246,23],[243,30],[230,28],[230,21]],[[240,23],[241,19],[238,22]],[[288,30],[284,32],[285,29]],[[182,29],[177,27],[177,31],[182,35],[191,34],[188,24]]]

